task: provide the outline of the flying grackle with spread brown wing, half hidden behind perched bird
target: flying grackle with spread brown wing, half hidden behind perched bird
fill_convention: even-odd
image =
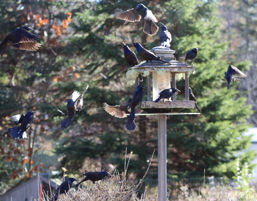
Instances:
[[[103,104],[103,108],[105,109],[106,112],[108,112],[109,114],[111,114],[114,117],[125,118],[126,115],[124,115],[124,114],[129,114],[128,107],[130,105],[131,99],[132,98],[130,98],[128,100],[128,104],[127,105],[122,105],[122,106],[115,105],[115,106],[112,106],[112,105],[108,105],[107,103],[104,103]],[[135,113],[141,113],[142,111],[143,110],[141,110],[141,109],[136,109]]]

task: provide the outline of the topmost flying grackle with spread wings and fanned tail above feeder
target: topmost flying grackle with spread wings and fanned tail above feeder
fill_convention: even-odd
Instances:
[[[124,19],[128,22],[136,22],[143,19],[145,21],[143,31],[148,35],[154,35],[157,33],[159,27],[154,23],[158,22],[152,11],[145,7],[143,4],[138,4],[136,8],[126,10],[122,13],[118,13],[119,19]]]

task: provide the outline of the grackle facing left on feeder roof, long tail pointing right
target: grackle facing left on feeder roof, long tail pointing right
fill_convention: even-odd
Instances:
[[[148,63],[149,61],[155,60],[155,61],[164,61],[161,59],[161,57],[157,56],[156,54],[152,53],[151,51],[145,49],[142,45],[140,45],[139,43],[130,43],[130,45],[133,45],[136,48],[137,53],[139,54],[139,56],[143,59],[146,60],[146,63]],[[168,64],[171,64],[168,61],[164,61]],[[146,64],[145,63],[145,64]]]

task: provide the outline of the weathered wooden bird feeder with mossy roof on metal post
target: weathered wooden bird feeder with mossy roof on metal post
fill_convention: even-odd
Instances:
[[[139,64],[128,69],[127,77],[136,72],[147,77],[147,101],[141,101],[137,107],[146,111],[144,114],[135,115],[157,115],[158,116],[158,201],[166,201],[166,115],[169,114],[200,114],[200,113],[178,113],[179,110],[195,108],[195,102],[189,101],[189,75],[195,71],[195,67],[185,65],[175,60],[175,51],[169,48],[158,46],[152,50],[154,54],[171,63],[163,61],[151,61],[147,64]],[[130,72],[131,71],[131,72]],[[176,74],[185,74],[185,100],[177,101],[176,93],[173,94],[172,101],[160,100],[155,103],[159,93],[171,87],[176,88]],[[138,76],[138,75],[134,75]],[[152,76],[152,78],[151,78]],[[152,98],[151,98],[151,79],[152,79]],[[172,86],[171,86],[172,82]]]

